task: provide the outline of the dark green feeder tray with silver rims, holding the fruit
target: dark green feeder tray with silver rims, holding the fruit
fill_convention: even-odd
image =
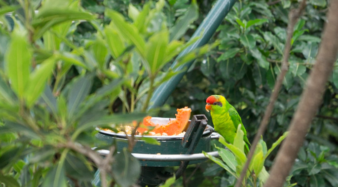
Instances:
[[[161,145],[148,144],[143,140],[137,140],[132,151],[132,155],[140,160],[141,166],[152,167],[166,167],[166,166],[180,166],[181,161],[190,161],[190,164],[196,164],[203,162],[207,159],[202,151],[206,151],[213,156],[218,156],[217,151],[210,151],[210,141],[212,138],[218,136],[212,136],[213,128],[206,125],[207,118],[205,115],[194,115],[197,123],[204,121],[205,126],[200,127],[199,137],[195,137],[194,133],[198,130],[198,126],[195,122],[194,125],[189,126],[185,135],[177,136],[141,136],[135,135],[135,138],[150,137],[156,139]],[[200,119],[197,119],[200,118]],[[152,117],[151,120],[157,124],[166,124],[170,118]],[[196,129],[193,129],[195,127]],[[201,129],[203,128],[203,129]],[[119,134],[109,132],[105,130],[99,130],[96,137],[100,140],[106,141],[109,144],[116,143],[116,150],[120,152],[123,148],[128,147],[128,139],[126,134]],[[189,133],[190,132],[190,133]],[[194,145],[192,145],[194,144]],[[194,148],[190,147],[193,146]],[[98,150],[101,155],[107,155],[109,150]]]

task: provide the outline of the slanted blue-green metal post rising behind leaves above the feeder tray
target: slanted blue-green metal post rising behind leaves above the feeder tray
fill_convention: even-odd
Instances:
[[[191,50],[200,47],[204,44],[206,44],[209,39],[213,36],[218,26],[222,23],[224,20],[226,14],[230,11],[233,4],[236,2],[236,0],[218,0],[213,8],[210,10],[208,15],[205,17],[201,25],[197,28],[195,33],[192,35],[191,38],[197,37],[203,34],[201,38],[199,38],[195,43],[190,45],[188,48],[186,48],[184,51],[182,51],[179,56],[174,61],[172,68],[175,67],[177,64],[177,59],[180,58],[182,55],[187,54]],[[150,100],[150,107],[149,109],[156,108],[162,106],[166,100],[168,99],[169,95],[174,91],[177,84],[181,81],[183,76],[187,73],[189,67],[193,61],[188,62],[180,67],[178,67],[175,71],[182,71],[185,70],[185,72],[182,72],[178,75],[173,76],[170,80],[164,82],[161,84],[153,93],[151,100]]]

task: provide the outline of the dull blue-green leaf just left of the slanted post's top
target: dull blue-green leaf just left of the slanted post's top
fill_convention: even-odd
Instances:
[[[179,17],[174,25],[170,29],[170,41],[174,39],[180,39],[187,32],[190,24],[198,18],[198,6],[196,0],[191,1],[187,12]]]

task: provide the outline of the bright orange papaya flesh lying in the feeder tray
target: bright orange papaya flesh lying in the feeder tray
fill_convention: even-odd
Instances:
[[[178,135],[187,129],[187,125],[190,118],[191,109],[188,107],[177,109],[177,114],[175,119],[171,119],[167,124],[155,124],[151,121],[151,116],[147,116],[143,119],[143,125],[137,128],[137,131],[141,134],[149,131],[157,134],[166,134],[168,136]]]

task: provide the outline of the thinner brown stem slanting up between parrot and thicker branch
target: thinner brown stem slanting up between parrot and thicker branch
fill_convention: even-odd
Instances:
[[[288,59],[289,59],[289,56],[290,56],[291,39],[292,39],[292,36],[293,36],[293,33],[294,33],[294,27],[295,27],[300,15],[301,15],[302,11],[304,10],[305,6],[306,6],[306,0],[302,0],[300,2],[300,7],[296,10],[291,10],[290,13],[289,13],[289,24],[288,24],[288,28],[287,28],[287,39],[286,39],[285,48],[284,48],[284,57],[283,57],[281,73],[277,77],[277,81],[274,85],[272,94],[271,94],[270,99],[269,99],[269,104],[266,107],[266,110],[264,112],[264,116],[263,116],[263,119],[261,121],[260,127],[258,129],[256,136],[255,136],[254,142],[253,142],[253,144],[250,148],[248,159],[247,159],[247,161],[246,161],[246,163],[243,167],[243,170],[241,172],[239,179],[236,182],[235,187],[241,186],[241,183],[242,183],[242,181],[243,181],[243,179],[244,179],[244,177],[247,173],[249,163],[250,163],[252,156],[254,155],[254,152],[256,150],[257,144],[258,144],[261,136],[263,135],[263,133],[266,129],[268,120],[269,120],[270,115],[273,111],[274,103],[277,100],[279,90],[280,90],[282,83],[283,83],[284,76],[286,75],[286,73],[288,72],[288,69],[289,69]]]

